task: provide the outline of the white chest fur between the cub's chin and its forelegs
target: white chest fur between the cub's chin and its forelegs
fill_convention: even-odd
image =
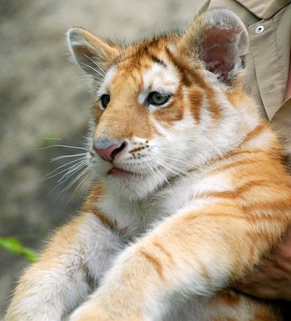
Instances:
[[[116,194],[107,194],[98,201],[97,207],[117,222],[119,229],[127,229],[127,236],[139,236],[163,217],[193,206],[202,193],[228,190],[229,182],[222,175],[207,176],[192,171],[157,190],[146,200],[128,201]]]

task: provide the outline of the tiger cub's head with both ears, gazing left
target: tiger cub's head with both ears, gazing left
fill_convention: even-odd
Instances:
[[[80,28],[68,42],[94,80],[90,166],[119,194],[147,197],[236,148],[250,126],[241,113],[248,36],[229,10],[126,48]]]

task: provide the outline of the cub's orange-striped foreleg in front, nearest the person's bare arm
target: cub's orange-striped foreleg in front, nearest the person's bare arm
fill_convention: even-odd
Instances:
[[[252,269],[287,226],[282,212],[257,220],[231,201],[167,218],[120,254],[70,321],[167,320],[177,299],[210,296]]]

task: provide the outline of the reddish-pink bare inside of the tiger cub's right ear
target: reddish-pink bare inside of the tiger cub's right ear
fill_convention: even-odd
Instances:
[[[204,62],[211,73],[218,74],[218,78],[225,82],[229,71],[234,68],[236,52],[234,50],[234,38],[236,29],[223,29],[222,27],[211,27],[206,30],[202,48],[204,51]]]

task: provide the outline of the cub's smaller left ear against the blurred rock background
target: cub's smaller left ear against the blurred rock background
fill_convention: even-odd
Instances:
[[[81,28],[69,29],[67,41],[71,55],[86,73],[100,79],[112,66],[122,48]]]

